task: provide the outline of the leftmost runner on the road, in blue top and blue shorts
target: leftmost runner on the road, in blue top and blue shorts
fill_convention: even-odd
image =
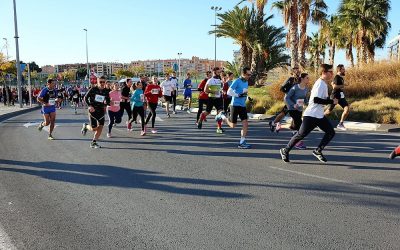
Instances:
[[[50,125],[49,140],[54,140],[53,130],[56,123],[56,103],[60,102],[57,96],[57,90],[54,88],[54,80],[47,80],[47,87],[44,87],[38,96],[38,102],[42,104],[41,113],[44,118],[44,122],[40,123],[38,130],[42,131],[45,126]]]

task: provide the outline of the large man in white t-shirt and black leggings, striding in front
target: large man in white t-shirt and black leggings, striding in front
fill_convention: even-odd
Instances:
[[[321,162],[327,162],[326,158],[322,154],[322,150],[329,144],[329,142],[335,136],[335,130],[333,129],[330,121],[324,116],[324,106],[327,104],[337,104],[338,99],[329,99],[328,85],[327,82],[332,80],[333,70],[332,65],[321,64],[319,73],[320,78],[315,82],[310,96],[310,104],[304,111],[303,123],[299,131],[292,137],[288,145],[285,148],[280,149],[280,154],[284,162],[289,161],[289,152],[292,148],[301,140],[304,139],[311,131],[316,127],[319,127],[325,132],[319,146],[313,151],[313,155]]]

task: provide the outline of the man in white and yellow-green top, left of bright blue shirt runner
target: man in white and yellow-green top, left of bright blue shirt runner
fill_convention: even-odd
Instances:
[[[217,110],[217,114],[223,110],[222,107],[222,98],[221,98],[221,92],[222,92],[222,84],[221,84],[221,69],[218,67],[215,67],[213,69],[213,77],[210,78],[206,86],[204,87],[204,92],[208,94],[208,102],[207,102],[207,108],[206,111],[203,112],[200,115],[200,118],[197,122],[197,128],[201,129],[203,126],[203,121],[206,119],[206,117],[211,113],[211,110],[213,107]],[[217,121],[217,133],[222,134],[222,120],[219,119]]]

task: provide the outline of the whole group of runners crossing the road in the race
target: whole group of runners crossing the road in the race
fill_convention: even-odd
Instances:
[[[271,131],[278,132],[283,117],[287,114],[292,117],[290,129],[293,131],[293,136],[286,147],[280,149],[281,158],[284,162],[290,162],[289,154],[293,148],[306,149],[303,139],[316,127],[319,127],[325,134],[312,154],[319,161],[327,162],[323,150],[335,136],[335,130],[327,116],[332,112],[335,105],[339,104],[344,109],[337,128],[346,130],[344,121],[349,114],[350,106],[344,95],[345,68],[343,65],[338,65],[336,71],[337,74],[335,75],[332,65],[322,64],[319,69],[319,78],[310,93],[309,76],[307,73],[301,73],[298,68],[293,68],[293,76],[282,85],[281,90],[285,92],[285,107],[275,120],[269,123],[269,127]],[[238,148],[251,148],[246,140],[249,126],[246,101],[249,99],[248,81],[251,75],[251,71],[247,67],[242,69],[241,76],[235,80],[232,73],[225,73],[218,67],[207,72],[206,77],[198,85],[198,112],[195,122],[197,128],[202,129],[203,123],[207,121],[208,115],[215,108],[216,132],[224,133],[223,124],[235,128],[239,117],[242,129]],[[331,94],[328,93],[328,84],[332,85]],[[140,81],[135,83],[132,82],[132,79],[127,79],[120,86],[118,82],[108,82],[102,76],[97,78],[97,83],[93,84],[86,93],[82,93],[78,87],[68,92],[71,96],[71,102],[75,102],[75,107],[79,105],[80,100],[88,107],[89,123],[82,125],[81,133],[86,135],[87,131],[93,131],[90,147],[100,148],[98,140],[102,134],[106,116],[109,121],[108,138],[112,137],[112,128],[122,122],[125,112],[128,115],[126,122],[128,131],[132,131],[133,123],[140,123],[141,136],[144,136],[147,133],[147,125],[151,120],[151,133],[157,133],[155,128],[156,109],[160,99],[163,98],[166,102],[167,117],[171,117],[170,105],[172,105],[172,113],[176,113],[178,79],[176,74],[173,73],[171,76],[166,75],[162,82],[155,76],[151,79],[141,77]],[[190,112],[192,105],[190,74],[184,81],[183,94],[187,109]],[[41,90],[38,102],[42,104],[41,112],[44,117],[44,121],[40,123],[38,129],[42,130],[44,126],[50,126],[48,138],[52,140],[54,139],[52,133],[55,127],[56,107],[64,102],[52,79],[49,79],[47,86]],[[328,106],[327,109],[325,109],[325,105]],[[204,106],[206,106],[205,109]],[[304,108],[304,106],[307,107]],[[140,117],[139,122],[137,122],[138,117]],[[400,146],[395,148],[389,157],[393,159],[399,155]]]

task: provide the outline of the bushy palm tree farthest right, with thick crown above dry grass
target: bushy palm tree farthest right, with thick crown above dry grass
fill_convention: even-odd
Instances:
[[[390,0],[342,0],[339,7],[341,19],[356,30],[355,46],[360,63],[373,61],[375,48],[383,48],[390,23]]]

